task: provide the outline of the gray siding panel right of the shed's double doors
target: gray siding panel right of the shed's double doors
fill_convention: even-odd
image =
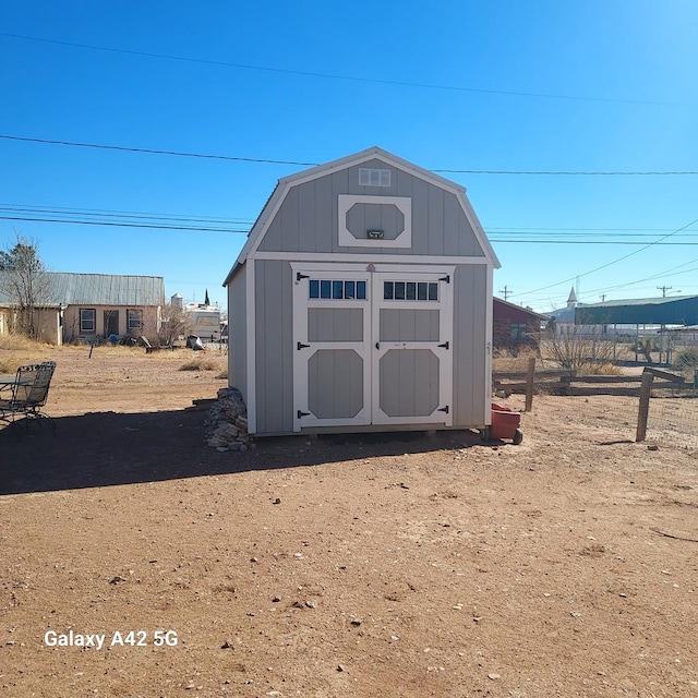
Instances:
[[[454,424],[479,425],[489,422],[485,414],[484,366],[486,345],[488,274],[485,265],[464,265],[456,268],[454,298]]]

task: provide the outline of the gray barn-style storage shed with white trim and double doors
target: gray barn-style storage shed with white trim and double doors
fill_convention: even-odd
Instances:
[[[498,266],[466,190],[381,148],[279,180],[224,282],[250,433],[489,425]]]

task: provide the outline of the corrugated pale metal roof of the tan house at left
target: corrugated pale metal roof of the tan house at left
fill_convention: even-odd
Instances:
[[[62,305],[164,305],[161,276],[69,274],[46,272],[50,280],[48,304]],[[0,288],[2,285],[0,284]],[[0,302],[10,302],[0,291]]]

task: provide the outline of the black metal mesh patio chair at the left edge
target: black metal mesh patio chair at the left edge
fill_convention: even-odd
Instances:
[[[29,420],[34,419],[48,424],[56,436],[56,422],[41,411],[48,398],[55,370],[55,361],[20,366],[10,397],[0,400],[0,422],[9,424],[23,417],[28,429]]]

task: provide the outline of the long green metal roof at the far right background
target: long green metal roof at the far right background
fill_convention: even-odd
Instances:
[[[695,325],[698,296],[631,298],[575,309],[577,325]]]

